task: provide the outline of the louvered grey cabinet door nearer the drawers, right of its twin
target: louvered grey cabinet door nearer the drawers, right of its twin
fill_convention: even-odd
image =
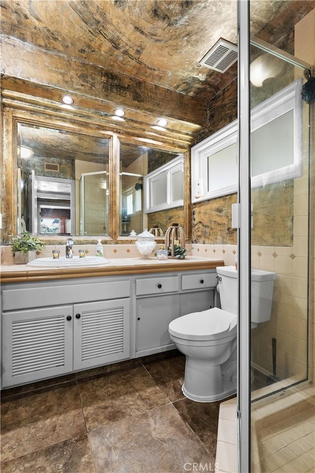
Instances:
[[[130,358],[130,300],[75,304],[73,343],[74,370]]]

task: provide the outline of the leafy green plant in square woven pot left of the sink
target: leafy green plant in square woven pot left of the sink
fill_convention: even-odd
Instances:
[[[40,251],[45,243],[30,232],[20,235],[11,235],[9,244],[12,248],[16,265],[26,265],[36,258],[36,251]]]

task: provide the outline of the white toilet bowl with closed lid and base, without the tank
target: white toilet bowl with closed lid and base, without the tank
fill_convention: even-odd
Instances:
[[[234,314],[215,307],[169,324],[171,340],[186,356],[182,391],[189,399],[209,403],[235,393],[236,323]]]

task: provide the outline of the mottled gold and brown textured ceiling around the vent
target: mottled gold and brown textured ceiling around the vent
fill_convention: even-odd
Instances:
[[[252,1],[252,34],[275,44],[314,4]],[[237,43],[236,0],[3,0],[1,33],[205,100],[237,73],[198,64],[220,37]]]

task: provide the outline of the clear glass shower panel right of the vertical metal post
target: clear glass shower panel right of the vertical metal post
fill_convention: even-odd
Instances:
[[[277,45],[250,31],[251,472],[315,469],[314,397],[305,389],[314,105],[302,99],[312,22],[314,31],[314,13]],[[253,270],[272,281],[262,294]]]

